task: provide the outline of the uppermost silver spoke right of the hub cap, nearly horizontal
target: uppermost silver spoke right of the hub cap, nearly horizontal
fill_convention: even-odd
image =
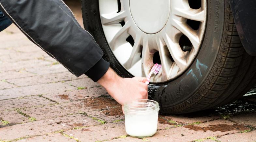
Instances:
[[[174,8],[173,14],[186,19],[203,22],[205,11],[201,9],[192,9],[192,8],[186,8],[186,9]]]

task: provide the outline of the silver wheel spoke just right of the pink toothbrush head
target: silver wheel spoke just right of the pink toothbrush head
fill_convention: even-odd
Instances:
[[[162,41],[160,39],[157,39],[157,45],[158,45],[158,51],[160,55],[160,60],[162,64],[162,77],[161,80],[165,81],[169,79],[169,72],[172,66],[172,61],[169,57],[169,50],[166,46],[163,45]]]

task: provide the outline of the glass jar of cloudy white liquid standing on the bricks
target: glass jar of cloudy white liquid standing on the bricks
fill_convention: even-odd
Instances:
[[[133,137],[149,137],[157,132],[158,102],[140,99],[124,106],[126,133]]]

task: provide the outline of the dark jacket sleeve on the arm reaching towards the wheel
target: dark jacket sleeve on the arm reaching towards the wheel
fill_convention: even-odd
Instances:
[[[102,50],[62,0],[0,0],[0,8],[32,42],[77,77],[96,70],[103,76],[108,69]]]

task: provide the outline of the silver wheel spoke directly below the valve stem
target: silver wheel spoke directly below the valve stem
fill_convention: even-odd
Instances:
[[[171,56],[173,57],[173,60],[178,65],[179,69],[182,70],[186,68],[186,53],[181,50],[180,45],[178,43],[173,43],[173,41],[167,35],[164,37],[164,41],[166,43],[168,50],[171,53]]]

